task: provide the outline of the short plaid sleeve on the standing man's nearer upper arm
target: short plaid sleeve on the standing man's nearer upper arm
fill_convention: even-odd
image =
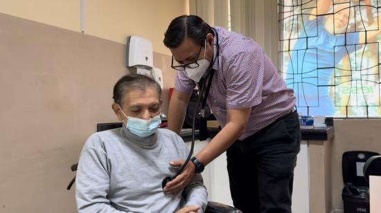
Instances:
[[[263,53],[239,53],[229,63],[226,71],[227,108],[246,109],[262,102]]]

